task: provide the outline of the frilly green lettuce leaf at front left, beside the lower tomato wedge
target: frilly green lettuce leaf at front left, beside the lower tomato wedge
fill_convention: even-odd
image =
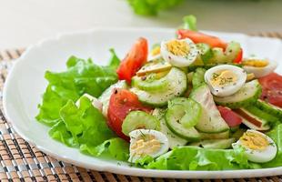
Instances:
[[[91,101],[86,96],[82,96],[79,101],[79,107],[70,100],[60,110],[60,116],[67,131],[73,136],[74,143],[97,146],[114,137],[114,133],[106,125],[105,116]]]

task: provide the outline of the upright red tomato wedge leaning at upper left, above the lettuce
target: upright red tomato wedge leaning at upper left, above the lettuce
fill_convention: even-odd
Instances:
[[[122,60],[116,73],[120,80],[126,80],[131,83],[131,78],[136,75],[136,72],[146,63],[148,56],[148,44],[145,38],[139,38]]]

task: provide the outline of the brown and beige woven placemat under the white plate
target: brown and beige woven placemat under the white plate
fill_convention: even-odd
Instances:
[[[252,35],[271,36],[282,39],[282,33],[259,33]],[[98,182],[142,182],[142,181],[186,181],[152,177],[131,177],[107,172],[97,172],[76,167],[45,155],[18,136],[3,115],[2,89],[13,60],[25,49],[0,51],[0,180],[1,181],[98,181]],[[192,180],[200,181],[200,180]],[[274,181],[282,182],[282,176],[215,179],[203,181]]]

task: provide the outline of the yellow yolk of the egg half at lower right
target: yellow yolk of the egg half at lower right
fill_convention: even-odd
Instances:
[[[240,141],[244,147],[252,150],[265,150],[269,146],[269,142],[265,136],[254,132],[246,132],[240,137]]]

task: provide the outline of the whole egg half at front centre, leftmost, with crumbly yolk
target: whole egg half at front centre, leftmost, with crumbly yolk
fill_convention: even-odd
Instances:
[[[168,139],[165,134],[153,129],[136,129],[129,133],[129,162],[135,163],[142,157],[159,157],[168,150]]]

